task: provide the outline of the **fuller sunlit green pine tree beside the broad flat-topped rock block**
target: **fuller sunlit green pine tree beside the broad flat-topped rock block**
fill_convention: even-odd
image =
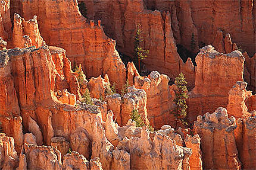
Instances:
[[[176,105],[176,108],[171,111],[172,114],[176,117],[176,127],[177,128],[177,121],[181,121],[183,124],[187,124],[185,121],[186,118],[186,109],[188,108],[188,105],[186,105],[186,99],[188,98],[188,89],[186,87],[186,84],[188,84],[185,81],[185,76],[183,73],[180,73],[179,76],[175,78],[175,84],[177,86],[177,89],[174,91],[176,94],[176,98],[174,98],[174,103]]]

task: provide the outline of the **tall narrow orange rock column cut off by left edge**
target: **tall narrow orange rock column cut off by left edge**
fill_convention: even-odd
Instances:
[[[0,52],[0,122],[4,133],[14,137],[17,152],[23,144],[22,118],[18,104],[14,76],[7,50]]]

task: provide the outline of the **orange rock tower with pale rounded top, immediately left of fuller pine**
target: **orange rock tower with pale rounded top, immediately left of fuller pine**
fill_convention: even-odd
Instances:
[[[174,117],[170,114],[173,110],[173,89],[168,85],[170,78],[157,71],[150,73],[148,77],[135,77],[135,86],[145,90],[148,102],[148,119],[150,124],[160,129],[164,124],[173,125]]]

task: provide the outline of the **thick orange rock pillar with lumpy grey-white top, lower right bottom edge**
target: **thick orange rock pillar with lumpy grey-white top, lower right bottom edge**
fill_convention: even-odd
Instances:
[[[234,133],[236,119],[227,116],[226,108],[217,108],[195,121],[195,133],[201,138],[203,169],[241,169]]]

